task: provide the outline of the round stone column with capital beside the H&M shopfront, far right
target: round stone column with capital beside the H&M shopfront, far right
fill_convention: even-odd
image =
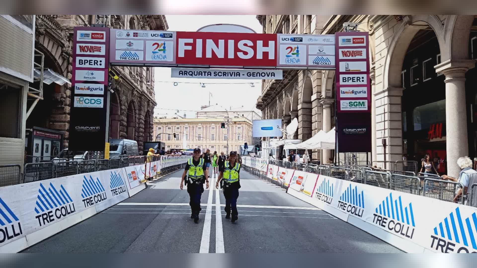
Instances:
[[[446,76],[446,151],[447,175],[458,178],[457,159],[467,156],[466,72],[475,66],[470,60],[448,60],[435,66]]]

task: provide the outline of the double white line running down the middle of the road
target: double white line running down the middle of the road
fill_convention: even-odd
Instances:
[[[209,182],[209,195],[207,199],[207,211],[204,219],[204,229],[202,230],[202,240],[200,242],[199,253],[209,253],[210,246],[210,228],[212,223],[212,199],[215,187],[215,178],[210,178]],[[224,249],[224,233],[222,229],[222,213],[220,211],[220,191],[215,190],[215,252],[225,253]]]

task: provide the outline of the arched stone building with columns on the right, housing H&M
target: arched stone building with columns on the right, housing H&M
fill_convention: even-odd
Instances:
[[[264,33],[333,34],[342,31],[344,22],[369,31],[373,161],[397,161],[409,154],[408,159],[420,165],[429,153],[446,166],[443,173],[457,176],[457,158],[476,156],[475,15],[257,18]],[[284,71],[283,80],[262,82],[257,108],[264,119],[282,118],[285,125],[297,117],[296,137],[303,140],[321,129],[328,131],[334,125],[334,76],[334,71]],[[442,119],[436,118],[436,111]],[[332,154],[323,150],[312,157],[328,159]]]

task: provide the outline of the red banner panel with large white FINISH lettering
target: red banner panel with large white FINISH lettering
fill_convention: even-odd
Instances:
[[[276,34],[176,32],[176,63],[276,66]]]

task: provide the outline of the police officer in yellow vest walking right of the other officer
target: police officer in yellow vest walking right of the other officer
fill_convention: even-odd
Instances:
[[[237,211],[237,198],[239,198],[240,188],[240,164],[237,163],[237,152],[231,151],[228,156],[228,160],[224,164],[223,171],[220,171],[216,188],[221,180],[223,180],[223,190],[225,196],[225,212],[226,219],[230,218],[232,214],[231,222],[235,222],[239,219],[239,212]]]

